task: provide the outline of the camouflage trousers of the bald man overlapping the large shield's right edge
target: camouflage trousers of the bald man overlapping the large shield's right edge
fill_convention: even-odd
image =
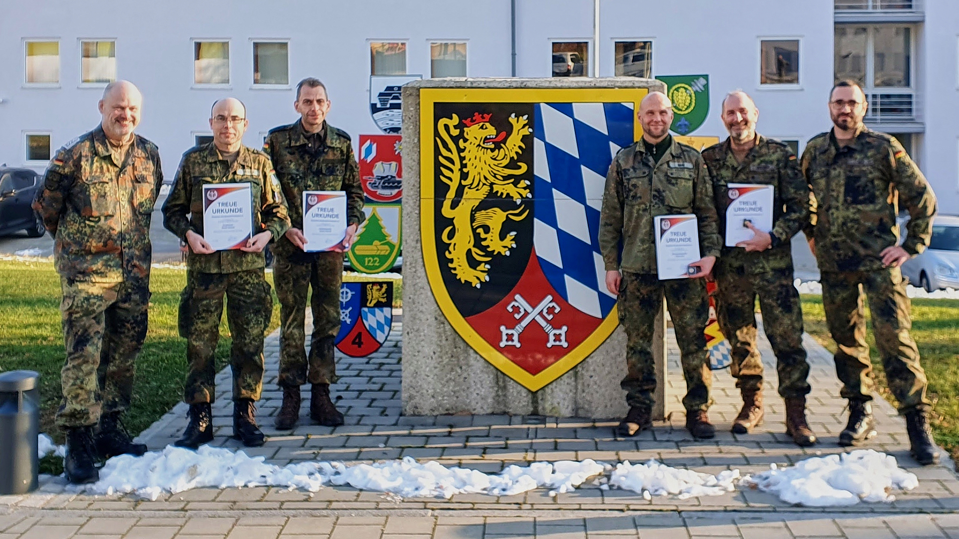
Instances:
[[[622,272],[620,281],[620,324],[626,332],[626,377],[620,387],[626,390],[630,407],[652,409],[656,389],[653,363],[653,328],[663,310],[666,297],[669,316],[679,343],[683,377],[686,379],[686,410],[708,410],[712,405],[710,372],[706,352],[706,322],[710,307],[706,283],[702,279],[661,281],[655,274]]]

